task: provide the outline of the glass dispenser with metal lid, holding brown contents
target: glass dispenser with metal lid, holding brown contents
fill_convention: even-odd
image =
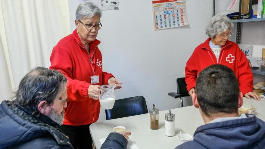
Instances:
[[[150,113],[150,129],[157,130],[159,129],[159,109],[153,108],[149,110]]]

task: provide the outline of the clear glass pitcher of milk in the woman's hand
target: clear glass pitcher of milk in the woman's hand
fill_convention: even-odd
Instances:
[[[99,103],[103,109],[112,109],[115,102],[115,85],[101,85]]]

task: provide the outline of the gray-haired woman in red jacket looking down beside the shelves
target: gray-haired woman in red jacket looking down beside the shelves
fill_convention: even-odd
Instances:
[[[189,95],[195,93],[196,78],[201,70],[212,64],[222,64],[235,72],[240,95],[260,100],[260,97],[253,92],[253,75],[245,54],[235,42],[228,40],[232,35],[230,29],[233,26],[229,18],[222,14],[212,17],[206,26],[209,38],[195,48],[185,67],[185,81]]]

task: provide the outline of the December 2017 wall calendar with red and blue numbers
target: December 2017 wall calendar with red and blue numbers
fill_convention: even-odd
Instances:
[[[167,29],[188,25],[186,15],[186,3],[172,2],[170,0],[157,1],[153,0],[154,29]],[[157,4],[159,5],[154,5]],[[162,2],[162,3],[161,3]]]

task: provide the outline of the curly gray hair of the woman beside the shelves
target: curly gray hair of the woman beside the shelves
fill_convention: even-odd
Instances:
[[[232,29],[234,24],[230,22],[229,18],[224,14],[217,14],[212,17],[206,26],[206,35],[210,38],[215,38],[215,35],[220,35],[228,29]]]

